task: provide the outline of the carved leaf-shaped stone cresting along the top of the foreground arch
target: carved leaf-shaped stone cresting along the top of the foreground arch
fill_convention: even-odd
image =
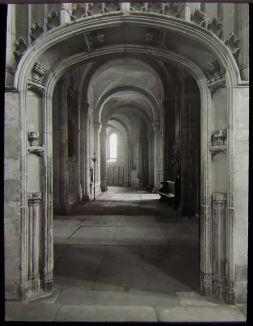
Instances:
[[[36,6],[36,5],[34,5]],[[46,6],[46,5],[45,5]],[[44,10],[45,25],[43,26],[38,21],[30,19],[29,23],[29,42],[33,43],[38,38],[43,36],[48,31],[57,28],[60,25],[71,23],[71,21],[89,18],[91,16],[104,15],[107,13],[125,12],[143,12],[150,14],[158,14],[168,17],[180,18],[193,24],[197,24],[201,28],[210,31],[215,37],[220,37],[223,30],[223,24],[213,16],[206,22],[206,15],[198,8],[189,7],[186,3],[82,3],[82,4],[66,4],[62,3],[61,8],[53,8],[50,12]],[[187,10],[186,10],[187,9]],[[186,14],[185,12],[188,12]],[[103,36],[103,35],[102,35]],[[98,36],[99,37],[99,36]],[[99,40],[101,42],[101,40]],[[103,40],[102,40],[103,41]],[[28,48],[29,42],[25,41],[24,35],[18,35],[14,44],[14,55],[17,60],[23,56]],[[239,40],[236,35],[231,33],[224,41],[228,49],[232,52],[236,61],[240,51]],[[29,44],[28,44],[29,43]]]

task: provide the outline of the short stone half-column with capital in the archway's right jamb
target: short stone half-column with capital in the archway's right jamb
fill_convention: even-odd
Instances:
[[[214,193],[213,203],[213,294],[222,298],[226,278],[226,201],[227,194]]]

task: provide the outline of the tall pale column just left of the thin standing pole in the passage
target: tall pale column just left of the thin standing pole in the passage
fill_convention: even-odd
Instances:
[[[90,126],[90,113],[85,112],[84,113],[84,142],[85,142],[85,186],[84,186],[84,192],[85,192],[85,199],[90,199],[90,176],[89,176],[89,169],[90,169],[90,132],[89,132],[89,126]]]

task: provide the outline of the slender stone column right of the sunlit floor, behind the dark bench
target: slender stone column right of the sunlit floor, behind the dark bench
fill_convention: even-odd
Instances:
[[[154,192],[160,188],[160,122],[153,122],[154,130]]]

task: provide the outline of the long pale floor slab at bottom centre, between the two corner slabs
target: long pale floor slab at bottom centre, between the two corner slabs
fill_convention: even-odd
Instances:
[[[153,307],[62,306],[55,321],[157,321]]]

